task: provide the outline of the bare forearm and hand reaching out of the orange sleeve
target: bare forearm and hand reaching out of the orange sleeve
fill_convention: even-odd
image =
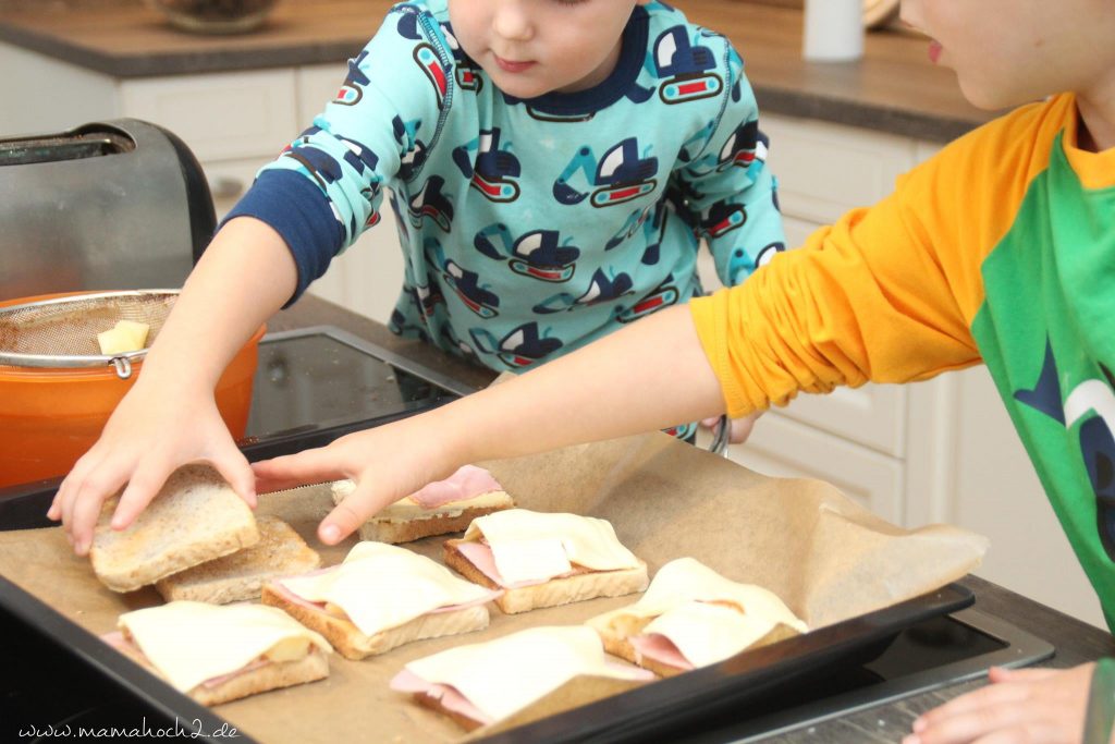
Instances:
[[[333,544],[459,465],[651,432],[723,410],[689,310],[679,307],[447,406],[254,467],[264,489],[355,480],[356,492],[319,528]]]

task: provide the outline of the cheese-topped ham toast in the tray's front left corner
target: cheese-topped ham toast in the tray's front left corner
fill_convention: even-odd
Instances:
[[[104,640],[203,705],[329,676],[326,639],[273,607],[169,602],[117,628]]]

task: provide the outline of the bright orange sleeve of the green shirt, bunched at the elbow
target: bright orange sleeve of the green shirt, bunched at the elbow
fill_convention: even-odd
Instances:
[[[980,264],[1010,228],[1069,97],[997,119],[903,176],[875,206],[822,228],[739,287],[694,299],[729,415],[867,380],[980,361],[969,330]],[[1075,109],[1073,109],[1075,110]]]

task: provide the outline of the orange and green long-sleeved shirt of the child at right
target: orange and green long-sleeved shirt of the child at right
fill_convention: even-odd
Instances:
[[[734,416],[982,361],[1115,628],[1115,149],[1020,108],[691,303]]]

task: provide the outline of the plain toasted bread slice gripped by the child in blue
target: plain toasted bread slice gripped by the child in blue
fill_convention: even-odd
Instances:
[[[260,539],[252,510],[209,465],[176,470],[120,531],[109,526],[118,503],[118,495],[105,502],[89,550],[94,572],[113,591],[134,591]]]

